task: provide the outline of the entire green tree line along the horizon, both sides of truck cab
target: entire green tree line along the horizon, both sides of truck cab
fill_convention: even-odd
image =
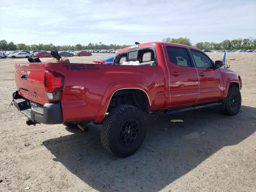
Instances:
[[[188,46],[195,46],[198,49],[209,49],[209,50],[239,50],[239,49],[256,49],[256,38],[247,38],[247,39],[234,39],[234,40],[224,40],[220,43],[215,43],[215,42],[198,42],[194,45],[192,45],[191,41],[189,38],[164,38],[162,42],[170,42],[170,43],[178,43],[178,44],[183,44],[183,45],[188,45]],[[26,45],[24,43],[18,43],[14,44],[14,42],[7,42],[6,40],[0,40],[0,50],[45,50],[45,51],[50,51],[50,50],[62,50],[62,51],[67,51],[67,50],[90,50],[90,49],[122,49],[125,47],[128,47],[130,45],[116,45],[116,44],[110,44],[110,45],[105,45],[102,44],[102,42],[97,43],[89,43],[88,45],[81,45],[81,44],[76,44],[76,45],[58,45],[55,46],[52,43],[50,44],[32,44],[32,45]]]

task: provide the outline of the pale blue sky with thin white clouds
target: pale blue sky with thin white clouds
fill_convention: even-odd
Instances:
[[[256,38],[256,0],[0,0],[0,40],[130,45]]]

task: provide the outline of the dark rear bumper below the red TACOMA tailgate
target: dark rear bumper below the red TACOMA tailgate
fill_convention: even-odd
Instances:
[[[32,122],[42,124],[61,124],[63,122],[59,102],[46,103],[44,105],[37,104],[38,107],[33,108],[30,105],[30,100],[17,94],[14,96],[13,100],[14,106],[32,120]]]

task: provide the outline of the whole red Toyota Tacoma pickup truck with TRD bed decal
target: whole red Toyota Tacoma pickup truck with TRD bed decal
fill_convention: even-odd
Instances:
[[[211,106],[237,114],[242,80],[221,67],[197,48],[164,42],[119,50],[111,65],[16,64],[13,102],[28,125],[102,124],[104,148],[125,157],[144,140],[146,114]]]

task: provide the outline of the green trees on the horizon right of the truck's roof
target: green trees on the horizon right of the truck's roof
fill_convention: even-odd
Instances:
[[[178,43],[183,45],[192,46],[190,39],[188,38],[164,38],[162,42],[169,43]],[[215,42],[198,42],[193,45],[198,49],[208,49],[208,50],[240,50],[240,49],[256,49],[256,38],[247,38],[247,39],[233,39],[233,40],[224,40],[220,43]]]

